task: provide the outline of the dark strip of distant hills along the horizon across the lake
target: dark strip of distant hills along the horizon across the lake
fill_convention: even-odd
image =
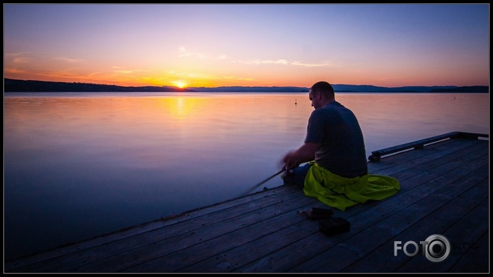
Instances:
[[[489,93],[487,85],[469,87],[446,86],[408,86],[398,88],[376,87],[374,85],[332,85],[336,92],[474,92]],[[123,87],[120,85],[100,85],[94,83],[63,83],[3,79],[3,92],[308,92],[303,87],[217,87],[217,88],[174,88],[168,86]]]

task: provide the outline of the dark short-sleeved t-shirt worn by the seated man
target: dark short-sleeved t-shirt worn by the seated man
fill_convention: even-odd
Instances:
[[[305,143],[321,143],[316,163],[345,178],[368,173],[363,132],[347,107],[334,101],[314,110],[307,129]]]

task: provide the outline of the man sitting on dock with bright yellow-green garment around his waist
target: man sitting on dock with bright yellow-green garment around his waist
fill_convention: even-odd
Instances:
[[[359,122],[351,110],[335,100],[332,85],[317,82],[308,96],[315,110],[308,120],[303,145],[283,157],[284,184],[303,186],[306,196],[341,211],[396,194],[399,181],[368,173]]]

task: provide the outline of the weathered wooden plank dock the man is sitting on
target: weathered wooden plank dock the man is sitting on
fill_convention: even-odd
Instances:
[[[330,207],[280,186],[8,261],[4,272],[489,273],[487,138],[453,132],[372,152],[370,174],[397,178],[401,191],[333,209],[350,222],[349,232],[335,236],[297,214]],[[421,247],[433,235],[449,242],[440,240],[443,261]]]

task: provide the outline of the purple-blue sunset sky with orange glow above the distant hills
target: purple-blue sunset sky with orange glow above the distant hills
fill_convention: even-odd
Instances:
[[[4,78],[489,85],[489,4],[4,4]]]

